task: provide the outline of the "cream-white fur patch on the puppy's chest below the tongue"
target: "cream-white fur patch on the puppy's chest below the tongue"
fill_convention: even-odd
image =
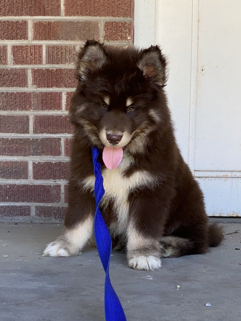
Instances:
[[[130,177],[125,177],[123,171],[131,163],[130,159],[126,159],[121,168],[105,168],[102,172],[105,190],[102,205],[107,206],[111,200],[114,204],[113,212],[117,217],[117,221],[110,226],[112,235],[126,232],[129,221],[129,193],[137,188],[152,187],[155,184],[155,178],[145,170],[135,171]],[[94,179],[94,175],[85,178],[82,182],[84,188],[94,191]]]

